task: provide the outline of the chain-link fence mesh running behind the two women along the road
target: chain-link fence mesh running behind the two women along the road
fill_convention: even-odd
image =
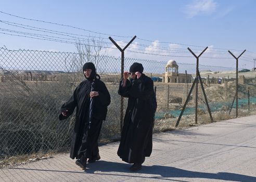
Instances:
[[[69,149],[74,115],[65,121],[59,121],[58,115],[62,103],[84,79],[82,66],[87,61],[95,63],[111,95],[100,141],[119,139],[120,60],[109,56],[95,58],[75,53],[0,48],[0,161],[15,155]],[[144,73],[156,87],[155,132],[174,128],[195,79],[196,64],[125,58],[124,70],[129,70],[133,62],[143,64]],[[199,65],[199,71],[213,120],[234,118],[235,109],[229,114],[236,93],[234,69]],[[255,114],[255,82],[255,72],[239,73],[239,116]],[[198,88],[197,124],[210,123],[200,84]],[[127,99],[124,112],[126,103]],[[178,127],[195,124],[194,88]]]

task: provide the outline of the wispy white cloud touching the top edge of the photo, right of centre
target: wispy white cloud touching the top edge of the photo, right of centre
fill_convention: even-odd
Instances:
[[[211,14],[216,10],[217,3],[214,0],[194,0],[185,8],[188,18],[193,18],[200,14]]]

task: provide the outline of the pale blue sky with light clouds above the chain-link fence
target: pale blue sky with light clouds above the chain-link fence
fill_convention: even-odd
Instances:
[[[108,43],[111,43],[107,39],[111,35],[122,47],[136,35],[137,38],[125,52],[125,56],[131,58],[195,63],[187,47],[198,55],[208,46],[207,54],[200,59],[201,64],[235,67],[235,60],[227,50],[239,56],[246,49],[239,67],[251,69],[253,58],[256,58],[255,8],[254,0],[1,1],[0,47],[76,51],[73,44],[14,36],[24,34],[10,31],[46,34],[13,26],[13,23],[19,23],[70,34],[97,36]],[[25,20],[3,12],[102,34]],[[114,45],[104,46],[109,47],[105,49],[105,54],[120,56]]]

